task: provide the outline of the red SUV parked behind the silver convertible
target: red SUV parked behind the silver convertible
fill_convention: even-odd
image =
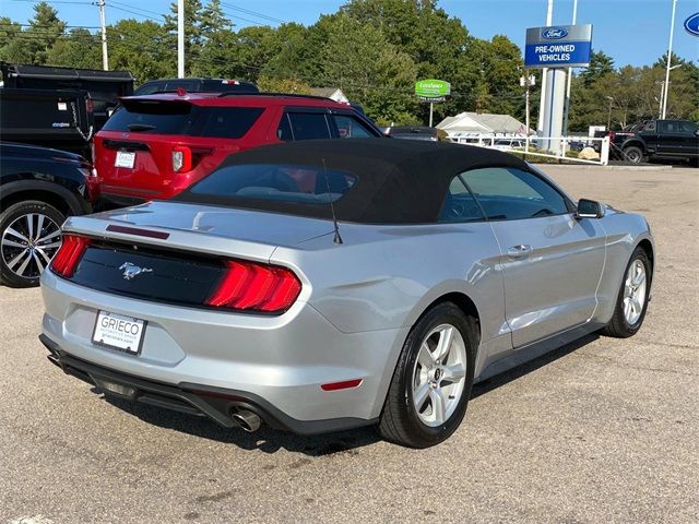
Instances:
[[[360,111],[301,95],[161,93],[121,98],[95,135],[108,204],[169,199],[232,153],[292,140],[383,136]]]

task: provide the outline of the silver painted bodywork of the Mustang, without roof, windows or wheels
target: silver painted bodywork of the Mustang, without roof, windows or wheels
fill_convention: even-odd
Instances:
[[[88,289],[46,271],[43,332],[68,354],[123,373],[250,392],[297,420],[376,419],[411,326],[446,295],[479,317],[475,377],[483,380],[608,322],[645,221],[608,209],[513,222],[378,226],[157,202],[71,217],[64,230],[110,224],[166,231],[167,246],[293,269],[298,300],[277,317],[156,303]],[[531,246],[523,257],[513,246]],[[127,260],[125,260],[127,262]],[[98,310],[147,321],[140,356],[91,342]],[[553,344],[553,346],[552,346]],[[320,384],[363,379],[325,392]]]

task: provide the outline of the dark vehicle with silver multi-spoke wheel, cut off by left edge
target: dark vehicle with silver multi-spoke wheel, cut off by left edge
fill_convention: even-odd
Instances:
[[[38,285],[68,215],[92,211],[90,163],[64,151],[0,142],[0,281]]]

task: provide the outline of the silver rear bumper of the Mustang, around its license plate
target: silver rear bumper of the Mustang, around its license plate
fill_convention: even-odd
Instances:
[[[242,398],[271,425],[303,433],[375,421],[407,332],[343,333],[300,300],[277,317],[155,303],[82,287],[50,270],[42,276],[42,291],[43,342],[70,369],[87,377],[106,369],[165,385],[179,401],[192,391]],[[138,356],[92,342],[99,310],[147,322]],[[86,366],[98,369],[91,376]],[[353,379],[362,379],[360,385],[321,388]]]

